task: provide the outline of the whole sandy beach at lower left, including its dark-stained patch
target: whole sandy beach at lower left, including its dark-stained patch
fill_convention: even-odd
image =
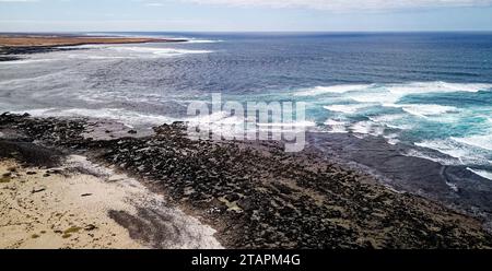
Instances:
[[[83,156],[69,156],[58,167],[2,160],[0,174],[0,248],[221,248],[212,228]],[[140,217],[140,209],[161,216]],[[138,228],[118,224],[119,214]],[[159,234],[140,238],[142,232]]]

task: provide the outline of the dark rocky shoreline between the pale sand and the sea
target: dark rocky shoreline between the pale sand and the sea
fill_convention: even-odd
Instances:
[[[140,134],[97,120],[3,114],[0,158],[47,161],[34,144],[60,158],[83,154],[114,166],[212,226],[227,248],[492,247],[480,221],[315,152],[285,154],[273,142],[191,141],[184,128],[176,122]],[[142,222],[155,216],[144,208],[110,212],[138,240],[162,235]]]

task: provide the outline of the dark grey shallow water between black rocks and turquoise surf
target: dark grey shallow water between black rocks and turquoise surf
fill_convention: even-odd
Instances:
[[[492,233],[492,182],[465,165],[444,165],[409,155],[414,146],[389,144],[380,137],[348,133],[311,133],[309,150],[337,158],[354,169],[371,173],[391,189],[418,195],[483,222]],[[425,150],[430,151],[430,150]]]

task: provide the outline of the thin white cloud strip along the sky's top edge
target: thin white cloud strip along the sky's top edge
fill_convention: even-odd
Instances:
[[[492,5],[492,0],[181,0],[203,4],[242,7],[306,8],[329,11],[401,10],[442,7]]]

